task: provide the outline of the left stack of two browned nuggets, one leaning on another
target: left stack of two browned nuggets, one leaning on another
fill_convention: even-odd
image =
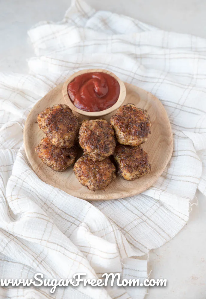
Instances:
[[[64,171],[77,157],[75,141],[79,122],[67,105],[55,105],[42,111],[37,122],[46,134],[35,148],[39,158],[55,171]]]

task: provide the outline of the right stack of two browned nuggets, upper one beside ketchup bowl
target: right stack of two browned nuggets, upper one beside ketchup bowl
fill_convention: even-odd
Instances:
[[[140,147],[151,132],[151,121],[147,111],[129,103],[117,109],[110,123],[119,142],[114,151],[119,176],[133,181],[149,173],[151,165],[148,155]]]

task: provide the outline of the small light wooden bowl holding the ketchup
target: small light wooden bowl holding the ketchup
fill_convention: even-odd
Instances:
[[[99,112],[87,112],[87,111],[81,110],[81,109],[77,108],[76,106],[74,106],[74,104],[72,103],[72,101],[69,97],[69,94],[68,94],[68,91],[67,91],[67,86],[70,82],[72,82],[72,80],[74,80],[75,77],[77,77],[79,75],[87,74],[87,73],[96,73],[96,72],[106,73],[106,74],[114,77],[117,80],[117,82],[119,83],[119,86],[120,86],[119,98],[116,101],[116,103],[108,109],[105,109],[105,110],[102,110],[102,111],[99,111]],[[92,68],[92,69],[89,69],[89,70],[82,70],[82,71],[78,71],[78,72],[74,73],[64,83],[62,92],[63,92],[64,100],[66,101],[66,104],[69,106],[70,109],[73,110],[73,112],[76,112],[77,114],[81,114],[81,115],[91,117],[91,118],[97,118],[97,117],[99,118],[103,115],[107,115],[107,114],[112,113],[113,111],[118,109],[123,104],[123,102],[125,100],[125,97],[126,97],[126,87],[125,87],[125,84],[122,82],[122,80],[120,80],[112,72],[101,69],[101,68]]]

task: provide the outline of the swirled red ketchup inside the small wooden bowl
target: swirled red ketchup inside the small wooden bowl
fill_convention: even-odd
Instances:
[[[118,81],[103,72],[85,73],[67,86],[73,104],[84,111],[97,112],[110,108],[119,98]]]

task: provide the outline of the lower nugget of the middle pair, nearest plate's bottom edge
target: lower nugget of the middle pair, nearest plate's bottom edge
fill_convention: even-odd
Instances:
[[[92,191],[105,189],[116,178],[116,168],[109,158],[93,161],[88,155],[76,161],[73,172],[78,181]]]

